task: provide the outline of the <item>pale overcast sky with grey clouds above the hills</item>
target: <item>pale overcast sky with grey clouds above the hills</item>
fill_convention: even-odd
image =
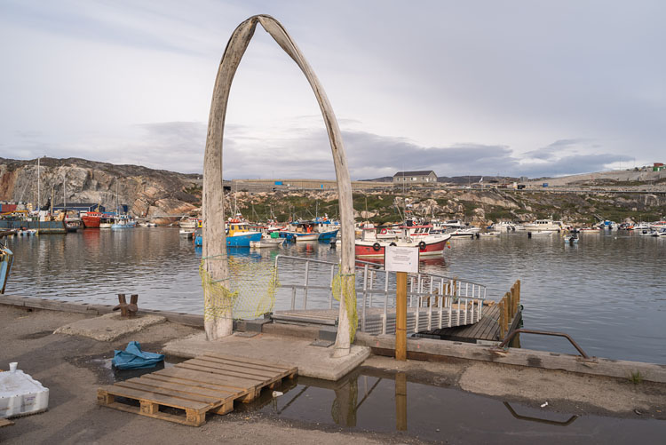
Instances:
[[[202,171],[226,42],[267,13],[305,53],[353,179],[666,161],[666,3],[0,0],[0,156]],[[225,177],[335,176],[305,77],[258,26]]]

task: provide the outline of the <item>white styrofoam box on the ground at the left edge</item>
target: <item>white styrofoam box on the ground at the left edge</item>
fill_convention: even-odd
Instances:
[[[21,416],[49,407],[49,388],[22,370],[0,372],[0,418]]]

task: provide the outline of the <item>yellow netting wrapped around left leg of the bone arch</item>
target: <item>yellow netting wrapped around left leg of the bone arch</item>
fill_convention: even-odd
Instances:
[[[205,269],[206,261],[226,261],[228,277],[214,280]],[[234,320],[258,318],[273,312],[279,283],[275,266],[219,255],[203,258],[199,266],[203,287],[203,319],[231,317]]]

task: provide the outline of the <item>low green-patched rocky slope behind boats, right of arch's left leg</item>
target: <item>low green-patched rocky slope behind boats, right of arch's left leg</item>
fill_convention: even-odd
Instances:
[[[337,193],[333,191],[239,192],[235,199],[239,210],[248,219],[266,220],[273,216],[284,221],[289,217],[309,219],[324,213],[337,218]],[[354,217],[357,221],[367,219],[376,224],[399,222],[406,208],[405,199],[416,216],[464,219],[476,226],[551,217],[583,226],[598,219],[654,221],[666,215],[666,197],[663,195],[415,189],[407,194],[390,190],[355,191]],[[227,205],[231,201],[227,200]]]

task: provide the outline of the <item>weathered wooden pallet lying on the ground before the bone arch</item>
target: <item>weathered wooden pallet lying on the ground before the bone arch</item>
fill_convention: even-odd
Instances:
[[[101,387],[97,401],[108,408],[200,426],[206,423],[206,413],[226,414],[234,409],[234,401],[253,401],[263,388],[273,389],[281,384],[282,378],[294,378],[296,374],[297,368],[271,362],[205,354],[164,370]],[[161,410],[164,407],[176,410],[165,412]]]

